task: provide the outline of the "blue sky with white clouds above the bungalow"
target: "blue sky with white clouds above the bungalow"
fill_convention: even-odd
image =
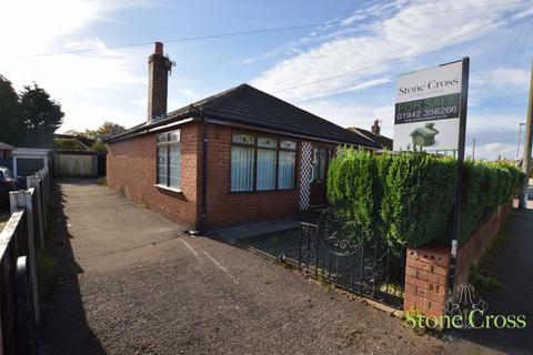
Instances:
[[[165,42],[175,61],[169,110],[242,82],[342,126],[382,120],[393,132],[394,80],[471,58],[467,153],[514,158],[526,114],[533,2],[436,1],[4,1],[1,74],[33,81],[66,112],[61,131],[144,120],[147,59]],[[24,23],[24,26],[21,26]],[[316,24],[209,40],[169,40]],[[42,53],[94,50],[33,57]]]

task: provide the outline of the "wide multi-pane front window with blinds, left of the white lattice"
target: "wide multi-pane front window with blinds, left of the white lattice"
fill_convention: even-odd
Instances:
[[[234,133],[230,191],[294,189],[296,142]]]

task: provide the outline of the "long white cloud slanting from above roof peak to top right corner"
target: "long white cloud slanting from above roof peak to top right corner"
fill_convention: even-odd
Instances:
[[[373,21],[368,33],[333,39],[285,59],[255,78],[252,84],[284,99],[302,100],[335,93],[371,75],[388,72],[391,61],[396,58],[415,57],[426,52],[428,48],[428,51],[436,51],[444,47],[441,43],[457,44],[504,24],[512,7],[482,8],[475,11],[475,17],[472,11],[439,16],[494,3],[452,0],[406,6],[396,3],[395,8],[400,10],[395,16]],[[523,9],[524,4],[515,4],[514,10]]]

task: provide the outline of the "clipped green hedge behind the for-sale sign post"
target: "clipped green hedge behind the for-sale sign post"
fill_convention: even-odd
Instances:
[[[465,162],[461,244],[481,219],[509,201],[521,179],[504,162]],[[394,248],[450,241],[455,193],[456,161],[447,156],[342,148],[330,163],[328,200],[354,237],[383,235]]]

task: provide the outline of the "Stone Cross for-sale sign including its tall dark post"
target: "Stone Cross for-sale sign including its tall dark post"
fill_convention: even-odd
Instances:
[[[464,174],[470,59],[400,75],[396,81],[394,151],[453,152],[457,159],[449,296],[455,287]]]

